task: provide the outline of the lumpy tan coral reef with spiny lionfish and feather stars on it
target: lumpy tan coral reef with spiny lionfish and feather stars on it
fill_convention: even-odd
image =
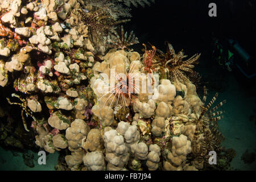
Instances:
[[[205,106],[187,74],[200,54],[183,61],[170,43],[139,53],[133,31],[118,34],[131,5],[151,2],[0,0],[0,85],[13,86],[19,102],[7,101],[36,145],[65,151],[63,169],[198,170],[226,151],[225,101]]]

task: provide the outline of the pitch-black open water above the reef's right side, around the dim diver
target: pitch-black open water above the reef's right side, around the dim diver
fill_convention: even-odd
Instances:
[[[212,2],[217,5],[217,17],[208,15],[208,6]],[[133,9],[133,18],[125,28],[134,30],[141,43],[150,42],[164,52],[165,41],[170,42],[176,52],[184,49],[188,57],[200,52],[200,64],[197,65],[196,71],[201,73],[203,79],[212,75],[225,77],[226,74],[232,74],[247,88],[255,82],[255,78],[245,79],[236,67],[233,67],[232,73],[227,72],[224,67],[213,61],[213,38],[222,41],[227,49],[230,47],[224,40],[236,40],[253,57],[250,65],[245,67],[246,71],[255,73],[255,12],[255,1],[252,0],[156,0],[150,7]],[[142,45],[139,44],[135,49],[141,50]],[[233,51],[232,48],[230,50]],[[239,56],[235,57],[237,63],[245,66]],[[223,91],[224,88],[219,89],[217,91]],[[246,91],[251,94],[251,90]]]

